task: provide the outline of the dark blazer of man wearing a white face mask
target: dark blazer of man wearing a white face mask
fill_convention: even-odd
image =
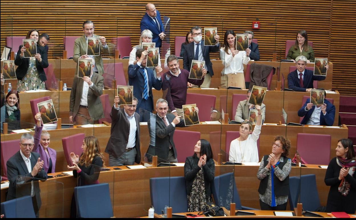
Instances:
[[[204,40],[201,40],[201,52],[203,53],[203,58],[205,60],[206,68],[210,76],[214,75],[213,63],[210,61],[210,52],[219,52],[219,45],[215,46],[204,46]],[[184,56],[183,56],[183,68],[190,71],[190,66],[192,65],[192,60],[194,60],[194,41],[185,45]]]

